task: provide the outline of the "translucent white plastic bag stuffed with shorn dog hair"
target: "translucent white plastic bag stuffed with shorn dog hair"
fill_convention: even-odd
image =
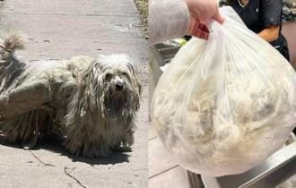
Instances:
[[[152,124],[181,167],[239,174],[279,150],[296,122],[292,66],[231,7],[208,40],[192,38],[162,74]]]

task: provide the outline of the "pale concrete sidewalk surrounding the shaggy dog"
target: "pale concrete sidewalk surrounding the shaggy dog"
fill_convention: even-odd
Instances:
[[[126,53],[138,64],[144,86],[131,152],[89,159],[69,156],[58,143],[38,150],[0,144],[0,187],[148,187],[148,45],[139,25],[133,0],[0,3],[0,28],[13,27],[29,38],[22,59]]]

